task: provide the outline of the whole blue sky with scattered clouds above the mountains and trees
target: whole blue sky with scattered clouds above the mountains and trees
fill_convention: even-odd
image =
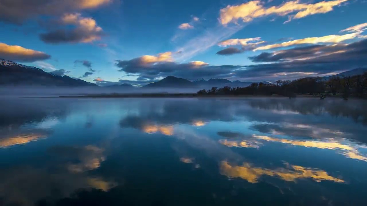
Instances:
[[[367,66],[367,0],[0,0],[0,58],[98,85]]]

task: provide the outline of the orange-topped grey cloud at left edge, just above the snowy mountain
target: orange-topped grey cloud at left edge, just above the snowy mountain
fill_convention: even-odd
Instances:
[[[44,52],[26,49],[18,45],[0,43],[0,58],[15,62],[36,62],[50,59],[51,56]]]

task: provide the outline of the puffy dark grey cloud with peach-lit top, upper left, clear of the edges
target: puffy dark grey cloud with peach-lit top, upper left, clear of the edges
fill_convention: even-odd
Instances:
[[[92,18],[86,18],[79,13],[64,14],[60,25],[72,25],[72,29],[56,29],[40,34],[42,41],[48,44],[61,43],[90,43],[100,40],[103,30],[97,26],[97,22]]]

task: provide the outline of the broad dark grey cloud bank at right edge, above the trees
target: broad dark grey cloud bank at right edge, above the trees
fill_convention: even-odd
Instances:
[[[263,52],[250,59],[254,62],[275,62],[245,66],[237,77],[257,80],[293,80],[325,76],[367,66],[367,40],[350,44],[313,45],[276,52]],[[340,72],[339,72],[340,73]]]

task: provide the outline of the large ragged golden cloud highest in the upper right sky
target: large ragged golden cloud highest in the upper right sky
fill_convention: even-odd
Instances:
[[[300,3],[299,0],[288,1],[279,6],[265,7],[259,0],[248,1],[241,5],[228,5],[220,10],[219,21],[222,25],[230,22],[237,23],[238,19],[243,22],[251,22],[255,18],[278,15],[291,15],[291,19],[304,18],[313,14],[324,14],[333,11],[333,7],[348,0],[321,1],[315,4]]]

